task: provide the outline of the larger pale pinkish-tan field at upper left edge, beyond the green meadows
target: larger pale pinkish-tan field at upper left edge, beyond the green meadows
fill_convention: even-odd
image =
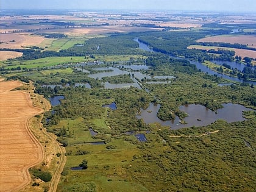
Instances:
[[[35,46],[44,40],[43,37],[30,34],[0,34],[0,48],[20,49],[22,46]]]

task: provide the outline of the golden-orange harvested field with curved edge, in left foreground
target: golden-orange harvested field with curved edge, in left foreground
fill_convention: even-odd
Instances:
[[[0,191],[18,191],[30,183],[28,169],[43,160],[43,147],[28,127],[38,113],[29,93],[10,91],[21,82],[0,82]]]

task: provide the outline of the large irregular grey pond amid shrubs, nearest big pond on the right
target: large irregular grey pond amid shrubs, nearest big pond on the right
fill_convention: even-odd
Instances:
[[[138,119],[143,119],[145,123],[160,123],[162,126],[169,126],[171,129],[180,129],[183,127],[193,126],[207,126],[215,122],[217,119],[224,119],[228,123],[235,121],[244,121],[243,111],[249,111],[250,108],[246,108],[243,105],[238,104],[223,104],[223,108],[219,108],[216,113],[202,105],[183,105],[179,107],[180,111],[188,113],[188,116],[183,119],[187,124],[181,124],[179,117],[172,121],[162,121],[157,117],[157,112],[160,108],[160,104],[149,104],[146,110],[141,110],[141,115],[137,115]]]

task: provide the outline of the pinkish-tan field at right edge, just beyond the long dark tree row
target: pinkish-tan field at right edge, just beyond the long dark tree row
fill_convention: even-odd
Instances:
[[[223,42],[248,44],[248,47],[256,48],[256,35],[217,35],[197,40],[197,42]]]

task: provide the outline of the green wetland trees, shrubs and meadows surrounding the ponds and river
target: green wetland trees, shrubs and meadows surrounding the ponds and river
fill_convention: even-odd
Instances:
[[[74,23],[55,24],[73,26]],[[255,111],[244,112],[247,121],[227,123],[219,119],[205,127],[179,130],[160,123],[146,124],[137,118],[141,108],[146,109],[151,102],[160,104],[157,117],[163,121],[176,116],[185,118],[188,114],[179,107],[187,104],[201,104],[216,111],[223,103],[232,102],[256,109],[253,84],[233,82],[220,87],[218,84],[230,81],[204,74],[187,60],[170,57],[199,62],[232,60],[235,55],[230,51],[187,49],[206,35],[227,32],[230,30],[108,34],[60,51],[33,49],[24,52],[20,59],[2,62],[1,76],[7,80],[32,80],[35,93],[44,98],[59,95],[65,98],[60,105],[44,113],[41,122],[66,149],[66,165],[57,191],[253,191],[256,188]],[[58,35],[56,37],[62,38]],[[138,43],[133,41],[135,37],[158,53],[138,49]],[[84,62],[78,68],[87,73],[79,71],[75,65],[57,66],[69,62]],[[247,62],[251,62],[250,59]],[[132,70],[122,68],[123,64],[146,64],[149,68]],[[88,71],[101,73],[96,68],[107,66],[128,74],[102,79],[88,76]],[[230,74],[233,71],[229,65],[219,66],[218,70],[221,69],[220,72]],[[106,81],[134,83],[134,73],[138,72],[176,78],[162,80],[168,84],[147,84],[146,77],[136,78],[141,88],[102,87],[102,82]],[[236,74],[238,76],[238,72]],[[254,78],[255,70],[247,66],[240,74]],[[76,83],[88,83],[90,88],[75,87]],[[115,110],[102,107],[113,102]],[[137,133],[143,133],[146,141],[139,141],[135,137]],[[71,169],[77,165],[86,170]],[[32,168],[30,172],[45,182],[52,178],[50,171]],[[33,185],[37,187],[37,183]]]

